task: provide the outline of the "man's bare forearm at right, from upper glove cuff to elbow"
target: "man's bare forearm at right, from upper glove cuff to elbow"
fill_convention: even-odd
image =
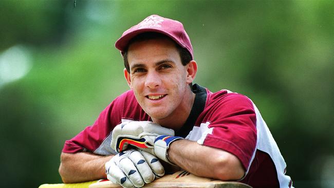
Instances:
[[[168,155],[173,163],[197,176],[236,180],[244,175],[242,164],[234,155],[194,141],[173,142]]]

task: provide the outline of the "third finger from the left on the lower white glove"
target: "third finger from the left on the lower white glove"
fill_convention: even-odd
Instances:
[[[128,158],[135,164],[145,183],[151,183],[154,180],[152,169],[140,152],[133,151],[128,155]]]

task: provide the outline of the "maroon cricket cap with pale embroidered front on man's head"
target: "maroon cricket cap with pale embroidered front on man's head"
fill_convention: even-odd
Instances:
[[[194,58],[193,47],[182,23],[159,15],[150,15],[139,24],[124,31],[122,36],[116,41],[115,47],[123,53],[129,41],[137,34],[144,32],[158,32],[169,36],[182,48],[187,49],[191,57]]]

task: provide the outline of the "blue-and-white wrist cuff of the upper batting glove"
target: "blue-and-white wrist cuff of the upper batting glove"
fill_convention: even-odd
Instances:
[[[154,141],[154,153],[159,158],[170,164],[173,164],[168,158],[168,148],[171,143],[178,139],[184,139],[182,137],[173,137],[167,135],[158,136]],[[175,164],[173,164],[175,165]]]

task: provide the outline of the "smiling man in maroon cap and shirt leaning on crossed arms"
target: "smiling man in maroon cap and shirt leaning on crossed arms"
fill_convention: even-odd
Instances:
[[[59,169],[64,182],[107,177],[140,187],[164,174],[160,163],[153,166],[159,159],[202,177],[291,187],[284,159],[252,101],[192,84],[197,64],[180,22],[151,15],[125,31],[115,46],[131,90],[65,142]],[[164,133],[170,137],[159,137]]]

